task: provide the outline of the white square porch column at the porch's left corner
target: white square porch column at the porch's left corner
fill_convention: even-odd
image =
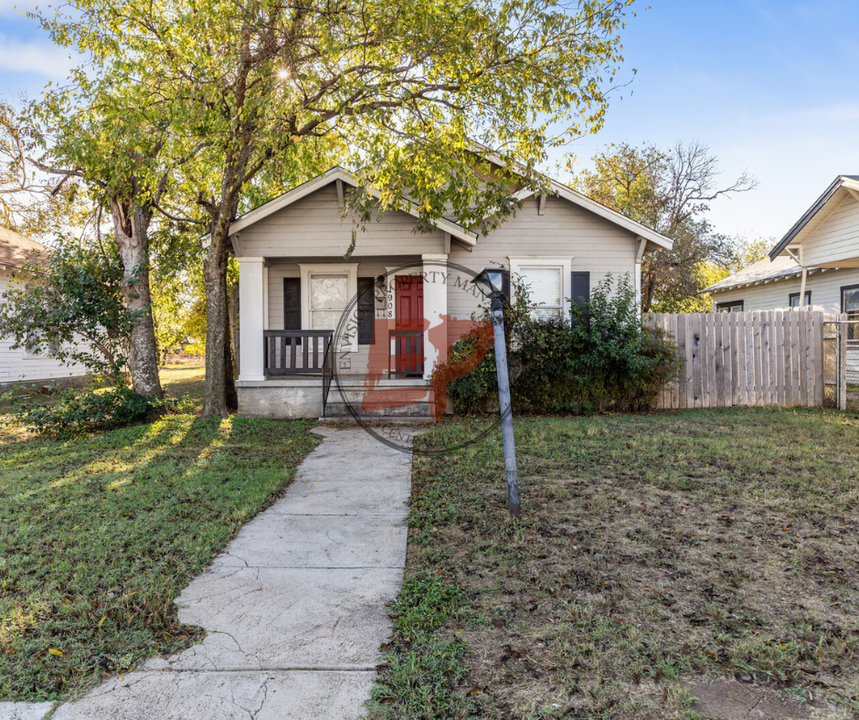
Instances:
[[[265,258],[239,262],[239,381],[265,380]]]

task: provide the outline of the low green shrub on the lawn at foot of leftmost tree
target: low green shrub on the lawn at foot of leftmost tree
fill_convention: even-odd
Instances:
[[[154,419],[180,412],[187,404],[184,399],[147,398],[127,387],[66,389],[40,400],[23,396],[12,398],[12,402],[16,422],[37,433],[71,435]]]

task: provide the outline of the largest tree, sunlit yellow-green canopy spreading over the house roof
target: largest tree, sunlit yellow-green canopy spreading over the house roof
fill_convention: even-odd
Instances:
[[[632,1],[73,0],[46,20],[205,144],[179,182],[208,230],[204,414],[229,409],[228,231],[261,173],[298,176],[312,141],[335,137],[387,207],[407,195],[425,220],[446,206],[466,223],[503,215],[509,182],[475,162],[475,143],[521,170],[599,127]]]

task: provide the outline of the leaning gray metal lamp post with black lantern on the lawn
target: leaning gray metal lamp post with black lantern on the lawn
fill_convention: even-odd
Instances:
[[[495,373],[498,376],[498,401],[501,406],[501,434],[504,438],[504,462],[507,465],[507,504],[510,514],[518,518],[519,472],[516,469],[516,444],[513,440],[513,409],[510,405],[510,375],[507,371],[507,344],[504,342],[504,304],[507,271],[486,268],[472,282],[492,301],[489,309],[495,336]]]

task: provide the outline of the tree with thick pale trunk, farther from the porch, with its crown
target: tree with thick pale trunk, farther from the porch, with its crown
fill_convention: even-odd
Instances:
[[[131,319],[128,367],[134,391],[163,396],[150,290],[150,226],[177,165],[195,148],[177,142],[169,108],[151,103],[140,86],[117,84],[77,69],[65,86],[30,106],[26,121],[42,151],[36,163],[58,178],[82,181],[112,226],[122,262],[120,288]],[[181,147],[177,147],[181,145]],[[109,221],[107,220],[109,218]]]

